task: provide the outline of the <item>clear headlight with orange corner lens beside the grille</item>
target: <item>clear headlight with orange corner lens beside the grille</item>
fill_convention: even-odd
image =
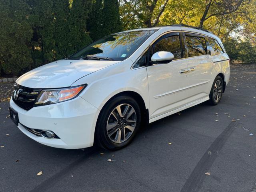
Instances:
[[[62,101],[70,100],[78,96],[78,94],[87,86],[76,86],[70,88],[42,90],[38,95],[35,106],[49,105],[59,103]]]

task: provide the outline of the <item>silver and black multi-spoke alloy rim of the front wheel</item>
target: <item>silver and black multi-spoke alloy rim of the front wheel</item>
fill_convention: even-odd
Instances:
[[[114,143],[126,141],[136,127],[136,112],[129,104],[120,104],[108,116],[106,130],[108,138]]]

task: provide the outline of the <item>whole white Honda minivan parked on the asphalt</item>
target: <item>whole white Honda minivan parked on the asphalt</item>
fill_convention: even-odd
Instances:
[[[208,30],[180,24],[130,30],[20,76],[10,117],[41,144],[116,150],[142,123],[206,100],[218,104],[229,78],[229,57]]]

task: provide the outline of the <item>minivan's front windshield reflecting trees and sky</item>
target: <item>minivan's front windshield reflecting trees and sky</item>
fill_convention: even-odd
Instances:
[[[156,30],[140,30],[112,34],[86,46],[68,57],[68,59],[99,57],[122,61],[132,55],[132,53],[155,31]]]

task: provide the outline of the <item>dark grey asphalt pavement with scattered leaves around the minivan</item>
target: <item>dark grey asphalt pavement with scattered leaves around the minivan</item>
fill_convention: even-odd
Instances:
[[[202,103],[153,122],[115,152],[28,138],[8,116],[10,89],[0,84],[1,192],[256,192],[255,65],[232,66],[217,106]]]

